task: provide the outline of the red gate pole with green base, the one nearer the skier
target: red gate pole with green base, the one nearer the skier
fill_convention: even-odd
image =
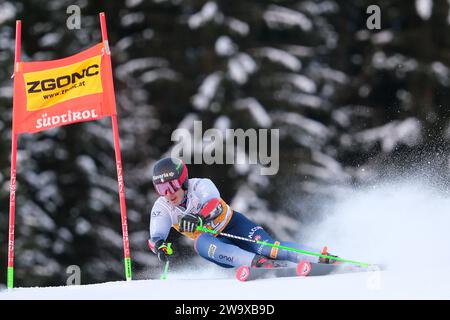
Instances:
[[[100,12],[99,16],[100,16],[100,26],[102,30],[102,40],[105,46],[106,59],[110,59],[111,53],[108,44],[108,32],[106,29],[105,13]],[[128,238],[127,208],[125,204],[125,184],[123,180],[122,155],[120,152],[120,137],[119,137],[119,128],[117,124],[117,115],[111,116],[111,122],[114,136],[114,152],[116,155],[116,170],[117,170],[117,184],[119,187],[120,215],[122,220],[123,250],[125,257],[124,258],[125,277],[127,281],[130,281],[132,279],[130,242]]]

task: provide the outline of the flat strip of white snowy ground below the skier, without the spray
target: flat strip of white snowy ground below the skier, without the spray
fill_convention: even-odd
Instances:
[[[279,278],[253,282],[234,279],[168,279],[98,285],[13,289],[0,299],[449,299],[448,268],[427,269],[424,262],[404,272]],[[211,289],[213,288],[213,289]]]

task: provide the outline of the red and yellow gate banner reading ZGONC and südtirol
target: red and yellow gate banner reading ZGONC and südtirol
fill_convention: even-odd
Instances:
[[[111,70],[103,43],[64,59],[16,63],[14,133],[115,115]]]

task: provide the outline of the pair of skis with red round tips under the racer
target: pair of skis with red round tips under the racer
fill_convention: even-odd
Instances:
[[[256,279],[324,276],[334,273],[367,272],[381,269],[379,265],[360,267],[348,264],[325,264],[302,261],[297,266],[282,268],[250,268],[248,266],[242,266],[236,270],[236,279],[245,282]]]

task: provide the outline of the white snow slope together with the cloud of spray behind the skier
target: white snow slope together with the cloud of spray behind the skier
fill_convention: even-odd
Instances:
[[[303,229],[308,244],[386,270],[239,282],[200,262],[167,280],[3,290],[0,299],[303,300],[450,299],[450,197],[417,181],[340,190],[320,223]]]

